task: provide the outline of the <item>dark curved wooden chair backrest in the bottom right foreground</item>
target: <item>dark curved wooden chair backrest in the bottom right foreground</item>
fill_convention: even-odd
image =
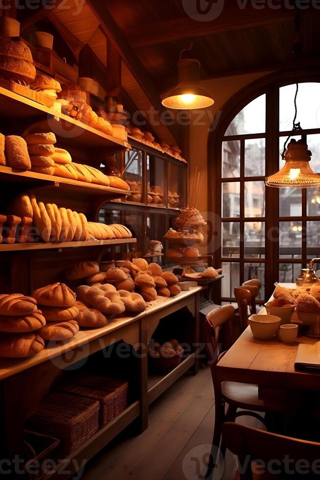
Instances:
[[[240,479],[253,478],[251,461],[256,462],[254,478],[319,478],[320,443],[229,422],[222,427],[222,441],[238,457]]]

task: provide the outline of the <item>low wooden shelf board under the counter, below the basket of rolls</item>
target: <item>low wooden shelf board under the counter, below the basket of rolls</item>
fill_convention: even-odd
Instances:
[[[165,390],[178,380],[195,363],[194,354],[189,355],[176,368],[165,375],[150,375],[148,378],[148,403],[154,402]]]

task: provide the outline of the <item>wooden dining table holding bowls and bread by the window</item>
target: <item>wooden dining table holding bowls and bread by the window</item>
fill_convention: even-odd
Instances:
[[[280,284],[297,288],[296,284]],[[273,298],[273,297],[272,297]],[[259,314],[266,314],[263,308]],[[297,312],[291,323],[295,323]],[[300,330],[300,329],[299,329]],[[259,398],[273,408],[297,406],[299,393],[320,390],[320,374],[315,371],[297,371],[295,359],[300,343],[315,344],[320,339],[301,332],[293,344],[284,344],[278,336],[271,340],[257,340],[249,326],[216,365],[217,380],[258,385]]]

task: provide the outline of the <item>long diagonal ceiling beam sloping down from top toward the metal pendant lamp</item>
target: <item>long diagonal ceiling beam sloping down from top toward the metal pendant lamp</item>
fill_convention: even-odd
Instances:
[[[129,42],[123,35],[123,32],[114,21],[113,16],[106,6],[106,3],[101,2],[101,0],[87,0],[87,4],[90,6],[92,12],[99,20],[101,29],[105,36],[112,41],[114,46],[118,49],[122,60],[125,62],[130,72],[137,80],[137,83],[148,97],[151,105],[153,105],[160,113],[163,112],[164,108],[161,104],[159,92],[155,88],[148,71],[143,66],[136,52],[130,46]],[[167,126],[167,128],[179,143],[181,136],[178,125]]]

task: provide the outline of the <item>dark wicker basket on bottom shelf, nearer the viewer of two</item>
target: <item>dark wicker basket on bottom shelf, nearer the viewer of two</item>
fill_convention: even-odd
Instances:
[[[68,455],[99,429],[99,402],[52,393],[40,404],[28,427],[60,440],[59,453]]]

